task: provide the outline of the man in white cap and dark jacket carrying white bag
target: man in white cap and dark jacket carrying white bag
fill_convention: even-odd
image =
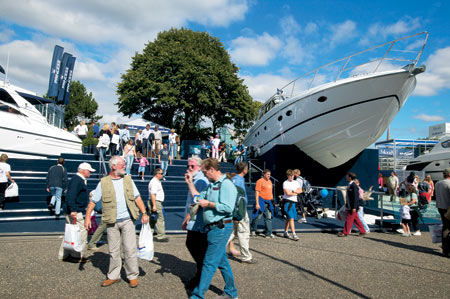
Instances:
[[[89,203],[89,192],[87,190],[86,179],[91,176],[91,172],[95,169],[91,167],[89,163],[81,163],[78,166],[78,172],[72,177],[67,188],[66,195],[66,223],[77,224],[80,227],[81,232],[81,244],[83,249],[81,252],[64,250],[64,239],[59,249],[58,259],[60,261],[70,262],[88,262],[86,257],[86,241],[87,230],[84,227],[83,213],[86,211],[86,207]],[[90,217],[90,215],[87,215]]]

